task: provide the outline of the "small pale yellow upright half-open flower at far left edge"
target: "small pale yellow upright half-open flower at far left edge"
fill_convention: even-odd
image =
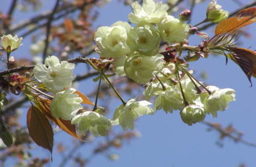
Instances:
[[[14,51],[16,50],[19,46],[21,46],[21,41],[22,41],[22,37],[18,38],[18,36],[14,36],[12,37],[11,34],[7,35],[7,36],[2,36],[1,40],[2,40],[2,47],[5,51]]]

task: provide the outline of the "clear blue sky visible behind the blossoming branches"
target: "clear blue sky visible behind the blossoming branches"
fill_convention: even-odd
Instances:
[[[196,24],[203,20],[207,4],[210,1],[202,3],[194,9],[192,24]],[[247,4],[251,1],[242,1]],[[4,4],[8,2],[4,1]],[[240,6],[233,3],[231,0],[219,0],[219,4],[223,5],[223,9],[234,11]],[[0,6],[1,11],[5,5]],[[43,5],[42,10],[52,9],[53,1]],[[98,9],[100,15],[94,27],[110,26],[118,20],[127,21],[127,15],[131,12],[129,6],[123,6],[117,0],[111,1],[109,4]],[[15,13],[17,21],[19,19],[29,18],[35,13],[20,12]],[[243,47],[251,47],[255,49],[256,42],[256,24],[246,27],[246,30],[251,33],[251,38],[241,38],[244,42]],[[207,31],[212,34],[213,28]],[[195,36],[191,39],[191,44],[198,44],[200,39]],[[192,41],[193,40],[193,41]],[[23,46],[19,50],[19,55],[27,55],[30,39],[24,39]],[[18,52],[18,51],[16,51]],[[97,55],[95,55],[97,57]],[[253,86],[250,87],[250,82],[240,67],[232,61],[228,61],[225,65],[225,57],[212,57],[200,59],[196,62],[191,62],[190,67],[194,69],[196,75],[201,72],[206,72],[208,79],[205,80],[209,85],[214,85],[220,88],[233,88],[236,93],[236,101],[230,103],[230,107],[225,112],[219,112],[218,117],[213,119],[207,115],[206,121],[221,123],[224,127],[228,124],[233,124],[235,128],[244,133],[243,138],[247,141],[256,143],[256,80],[253,78]],[[81,83],[82,85],[83,83]],[[93,84],[93,82],[90,82]],[[88,90],[82,90],[87,92]],[[120,105],[120,102],[114,102],[114,107]],[[114,108],[113,107],[113,108]],[[25,122],[24,122],[25,123]],[[111,162],[105,156],[96,156],[89,166],[238,166],[240,163],[245,163],[247,166],[256,166],[256,148],[248,147],[241,143],[234,143],[226,138],[224,147],[218,147],[215,142],[218,140],[216,131],[207,131],[207,126],[201,123],[187,126],[180,119],[179,112],[173,114],[165,114],[163,111],[158,111],[154,115],[143,116],[136,122],[136,130],[140,131],[141,137],[124,144],[121,149],[111,149],[111,152],[117,153],[119,159]],[[62,140],[61,138],[65,138]],[[55,136],[55,141],[64,141],[70,147],[71,137],[64,133],[59,133]],[[100,138],[99,138],[100,140]],[[84,155],[89,154],[87,149],[90,149],[95,144],[86,144],[86,147],[80,148]],[[49,153],[35,145],[36,154],[49,157]],[[53,150],[53,162],[49,166],[56,166],[59,163],[60,155],[56,149]],[[70,166],[70,163],[67,166]]]

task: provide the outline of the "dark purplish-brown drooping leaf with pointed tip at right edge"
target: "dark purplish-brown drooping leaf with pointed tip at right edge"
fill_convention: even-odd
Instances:
[[[231,47],[231,51],[232,60],[241,67],[251,82],[251,76],[256,78],[256,52],[242,47]]]

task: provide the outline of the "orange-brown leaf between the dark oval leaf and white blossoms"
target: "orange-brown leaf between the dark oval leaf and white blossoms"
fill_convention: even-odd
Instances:
[[[76,127],[74,124],[71,124],[71,121],[68,120],[62,120],[62,119],[56,119],[51,114],[51,100],[45,99],[45,98],[38,98],[38,106],[41,108],[42,112],[50,119],[52,122],[57,124],[60,129],[64,130],[66,133],[70,134],[71,136],[77,138],[80,141],[83,141],[79,136],[76,134]]]

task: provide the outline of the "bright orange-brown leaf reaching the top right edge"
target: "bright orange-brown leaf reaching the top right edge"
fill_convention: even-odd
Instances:
[[[231,33],[254,22],[256,22],[256,8],[243,9],[237,12],[234,17],[225,19],[220,22],[215,27],[215,35]]]

